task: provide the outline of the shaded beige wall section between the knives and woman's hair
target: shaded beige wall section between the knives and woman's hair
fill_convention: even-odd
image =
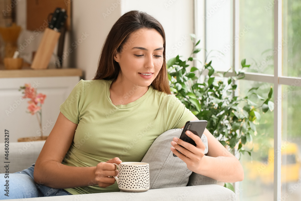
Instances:
[[[120,2],[117,0],[74,0],[72,41],[89,36],[72,55],[74,66],[85,71],[85,79],[91,80],[97,70],[101,48],[115,21],[120,17]]]

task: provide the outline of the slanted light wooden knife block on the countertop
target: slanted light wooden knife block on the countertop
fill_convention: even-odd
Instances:
[[[60,35],[60,32],[54,31],[53,29],[50,29],[48,27],[45,29],[43,38],[33,59],[31,68],[45,69],[48,67],[51,55]]]

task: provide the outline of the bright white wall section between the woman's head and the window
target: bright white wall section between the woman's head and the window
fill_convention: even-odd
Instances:
[[[122,0],[121,13],[139,10],[157,18],[166,34],[166,60],[190,56],[193,33],[193,0]]]

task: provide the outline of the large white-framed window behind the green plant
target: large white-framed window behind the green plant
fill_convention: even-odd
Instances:
[[[301,2],[299,0],[195,0],[196,35],[205,41],[217,71],[251,64],[239,93],[273,87],[274,111],[262,115],[252,158],[241,163],[245,179],[237,200],[301,200]],[[199,54],[204,61],[205,53]],[[254,100],[256,101],[256,100]]]

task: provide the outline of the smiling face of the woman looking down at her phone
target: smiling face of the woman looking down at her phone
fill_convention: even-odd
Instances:
[[[139,29],[129,35],[114,57],[123,81],[150,86],[163,64],[163,38],[155,29]],[[120,77],[121,74],[121,77]]]

